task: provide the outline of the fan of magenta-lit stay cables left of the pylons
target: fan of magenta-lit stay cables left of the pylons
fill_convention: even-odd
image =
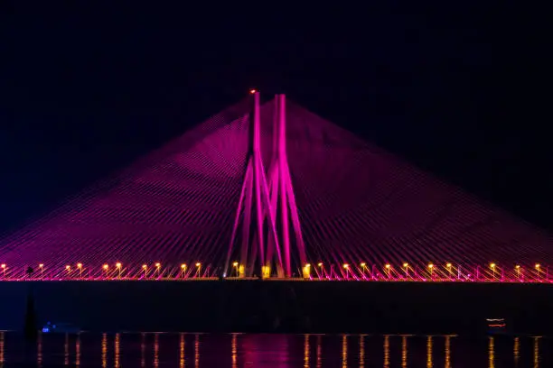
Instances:
[[[10,269],[43,263],[45,270],[82,262],[100,270],[117,261],[178,265],[216,258],[239,191],[245,154],[239,139],[246,138],[242,116],[247,108],[247,102],[231,106],[8,236],[0,246],[0,262]]]

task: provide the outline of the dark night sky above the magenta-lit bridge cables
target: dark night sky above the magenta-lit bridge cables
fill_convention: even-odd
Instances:
[[[248,87],[285,92],[553,229],[551,58],[539,9],[482,0],[278,10],[277,2],[50,3],[0,2],[0,231]]]

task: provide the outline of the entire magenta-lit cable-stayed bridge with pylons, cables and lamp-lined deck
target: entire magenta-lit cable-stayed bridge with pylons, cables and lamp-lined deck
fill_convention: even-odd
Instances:
[[[551,282],[552,251],[535,226],[252,90],[0,239],[0,281]]]

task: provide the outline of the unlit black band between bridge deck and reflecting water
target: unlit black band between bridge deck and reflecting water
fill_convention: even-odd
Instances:
[[[23,330],[32,293],[39,327],[96,331],[480,334],[553,332],[553,286],[355,281],[0,282],[0,329]]]

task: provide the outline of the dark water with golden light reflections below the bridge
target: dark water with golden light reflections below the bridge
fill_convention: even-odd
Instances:
[[[545,368],[542,336],[370,336],[254,334],[40,335],[33,344],[0,331],[0,367]]]

